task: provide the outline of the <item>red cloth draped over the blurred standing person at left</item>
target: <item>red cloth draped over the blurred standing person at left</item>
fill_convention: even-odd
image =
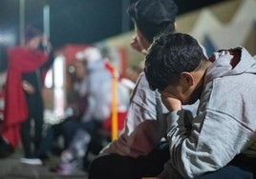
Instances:
[[[19,144],[20,124],[28,117],[25,92],[22,89],[22,73],[38,69],[48,60],[41,50],[12,48],[8,51],[9,70],[5,89],[5,120],[2,135],[13,148]]]

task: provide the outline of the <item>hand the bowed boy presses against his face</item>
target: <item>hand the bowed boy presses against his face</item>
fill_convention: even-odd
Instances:
[[[181,100],[170,92],[161,91],[160,98],[163,105],[169,111],[181,110]]]

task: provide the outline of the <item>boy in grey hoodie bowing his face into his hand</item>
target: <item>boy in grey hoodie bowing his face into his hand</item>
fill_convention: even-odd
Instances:
[[[144,71],[169,110],[171,157],[158,178],[193,178],[217,169],[229,173],[217,170],[215,178],[253,177],[256,61],[245,48],[220,50],[207,59],[190,35],[166,33],[151,46]],[[197,115],[189,121],[181,105],[198,99]]]

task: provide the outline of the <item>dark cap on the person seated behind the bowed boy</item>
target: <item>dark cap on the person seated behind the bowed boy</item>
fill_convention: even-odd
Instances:
[[[139,0],[127,11],[149,42],[161,32],[175,31],[178,7],[173,0]]]

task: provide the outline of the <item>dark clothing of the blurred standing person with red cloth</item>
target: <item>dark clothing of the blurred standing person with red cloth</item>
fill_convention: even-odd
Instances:
[[[49,61],[42,65],[38,70],[22,73],[22,80],[30,83],[34,89],[34,93],[25,92],[26,102],[28,106],[28,118],[21,124],[21,142],[26,158],[33,158],[38,152],[39,145],[42,140],[43,123],[44,123],[44,101],[42,97],[43,75],[53,64],[53,56]],[[33,131],[32,131],[33,121]],[[33,144],[33,148],[32,148]]]

